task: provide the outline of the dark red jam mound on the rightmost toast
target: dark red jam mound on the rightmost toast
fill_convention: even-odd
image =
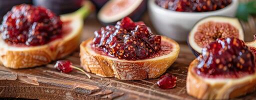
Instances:
[[[237,78],[255,72],[255,56],[242,40],[220,38],[202,49],[195,71],[209,78]]]

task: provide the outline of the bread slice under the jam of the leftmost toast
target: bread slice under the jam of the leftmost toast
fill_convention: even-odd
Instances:
[[[14,69],[34,67],[47,64],[74,51],[79,46],[82,20],[81,18],[61,18],[61,20],[70,20],[71,32],[63,38],[53,40],[44,45],[14,47],[6,44],[0,38],[0,64]],[[76,25],[72,26],[74,24]]]

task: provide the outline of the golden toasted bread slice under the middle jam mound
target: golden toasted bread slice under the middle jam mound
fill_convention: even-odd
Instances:
[[[175,61],[179,53],[179,45],[174,40],[161,36],[161,41],[171,44],[168,54],[142,59],[123,60],[100,55],[91,48],[92,38],[80,44],[81,66],[91,73],[105,77],[117,77],[121,80],[139,80],[155,78],[161,75]]]

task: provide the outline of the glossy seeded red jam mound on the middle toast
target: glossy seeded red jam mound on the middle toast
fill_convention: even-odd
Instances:
[[[161,36],[154,35],[143,22],[124,17],[116,25],[94,32],[93,46],[119,59],[144,59],[160,50]]]

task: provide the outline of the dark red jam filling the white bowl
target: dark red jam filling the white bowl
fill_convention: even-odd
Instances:
[[[224,8],[232,0],[155,0],[160,7],[182,12],[206,12]]]

